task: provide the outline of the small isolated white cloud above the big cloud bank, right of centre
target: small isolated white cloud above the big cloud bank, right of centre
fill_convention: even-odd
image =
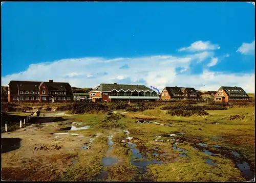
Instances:
[[[211,44],[210,41],[196,41],[192,43],[188,47],[183,47],[178,49],[178,51],[203,51],[203,50],[215,50],[215,49],[220,49],[221,47],[218,44]]]

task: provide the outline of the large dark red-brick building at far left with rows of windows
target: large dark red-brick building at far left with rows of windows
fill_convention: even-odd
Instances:
[[[70,102],[73,93],[69,83],[10,81],[9,102]]]

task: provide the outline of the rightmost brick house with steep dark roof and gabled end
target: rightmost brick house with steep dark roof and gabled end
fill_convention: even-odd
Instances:
[[[214,101],[248,102],[249,96],[241,87],[220,87],[214,96]]]

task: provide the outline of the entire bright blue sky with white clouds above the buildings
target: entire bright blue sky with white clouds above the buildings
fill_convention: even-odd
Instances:
[[[5,2],[11,80],[254,93],[255,7],[246,2]]]

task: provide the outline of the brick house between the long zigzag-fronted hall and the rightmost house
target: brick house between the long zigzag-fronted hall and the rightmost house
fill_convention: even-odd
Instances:
[[[161,93],[161,100],[197,100],[199,98],[195,88],[165,87]]]

